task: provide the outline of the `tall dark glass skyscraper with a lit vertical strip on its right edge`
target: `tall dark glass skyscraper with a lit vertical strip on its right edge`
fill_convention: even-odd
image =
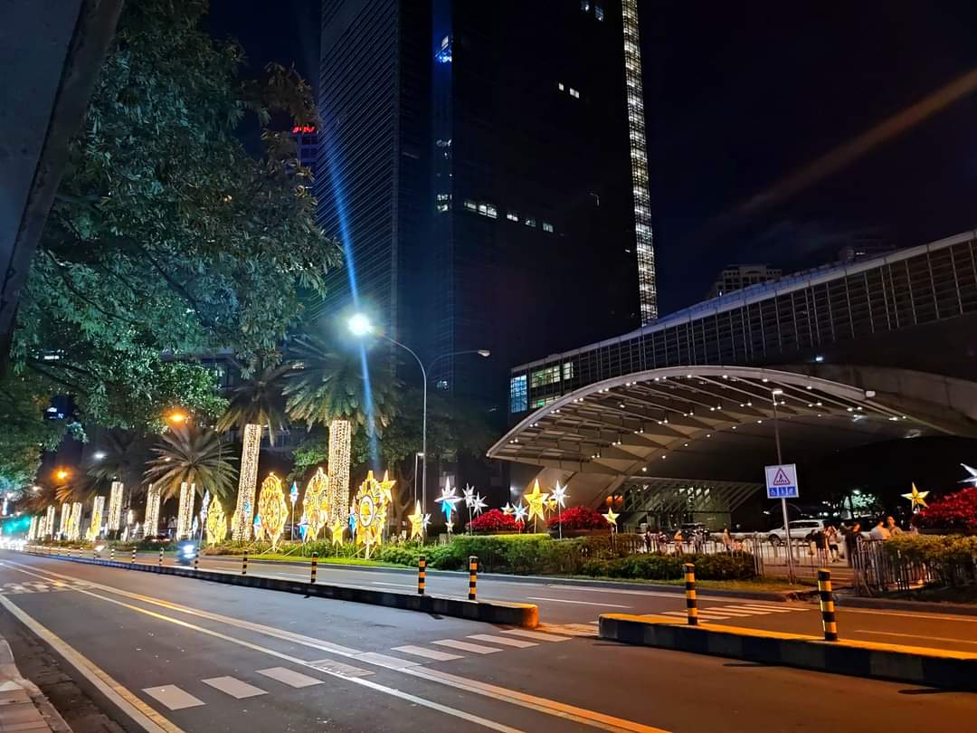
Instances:
[[[508,367],[656,317],[635,0],[325,0],[321,41],[334,304],[432,386],[504,419]]]

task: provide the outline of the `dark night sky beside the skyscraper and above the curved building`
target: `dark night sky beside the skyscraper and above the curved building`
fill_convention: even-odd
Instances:
[[[318,6],[212,0],[211,28],[253,65],[294,64],[315,84]],[[728,263],[790,271],[852,240],[977,227],[973,92],[783,184],[977,68],[977,2],[640,0],[639,12],[662,313],[700,300]]]

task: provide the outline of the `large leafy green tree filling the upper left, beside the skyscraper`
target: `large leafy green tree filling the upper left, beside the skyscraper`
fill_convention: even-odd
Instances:
[[[242,50],[202,30],[206,10],[140,0],[118,23],[0,380],[21,406],[0,433],[8,480],[60,437],[40,421],[54,394],[87,424],[159,429],[174,404],[216,417],[216,384],[193,356],[274,349],[339,260],[287,136],[266,130],[260,159],[234,136],[247,113],[314,122],[308,85],[278,66],[245,78]]]

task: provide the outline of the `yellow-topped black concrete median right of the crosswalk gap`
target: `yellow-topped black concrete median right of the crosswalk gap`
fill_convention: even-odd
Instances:
[[[693,626],[663,616],[628,614],[602,615],[599,634],[625,644],[977,691],[977,654],[967,652],[824,641],[817,636],[716,624]]]

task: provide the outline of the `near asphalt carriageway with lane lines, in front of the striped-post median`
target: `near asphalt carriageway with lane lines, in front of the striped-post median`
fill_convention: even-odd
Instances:
[[[537,587],[498,584],[524,594]],[[114,680],[127,705],[156,716],[150,729],[173,733],[459,725],[820,733],[934,721],[967,729],[977,715],[977,696],[966,693],[628,647],[595,638],[585,622],[528,635],[14,552],[0,552],[0,588],[6,612],[56,635]],[[545,592],[566,600],[586,591]]]

